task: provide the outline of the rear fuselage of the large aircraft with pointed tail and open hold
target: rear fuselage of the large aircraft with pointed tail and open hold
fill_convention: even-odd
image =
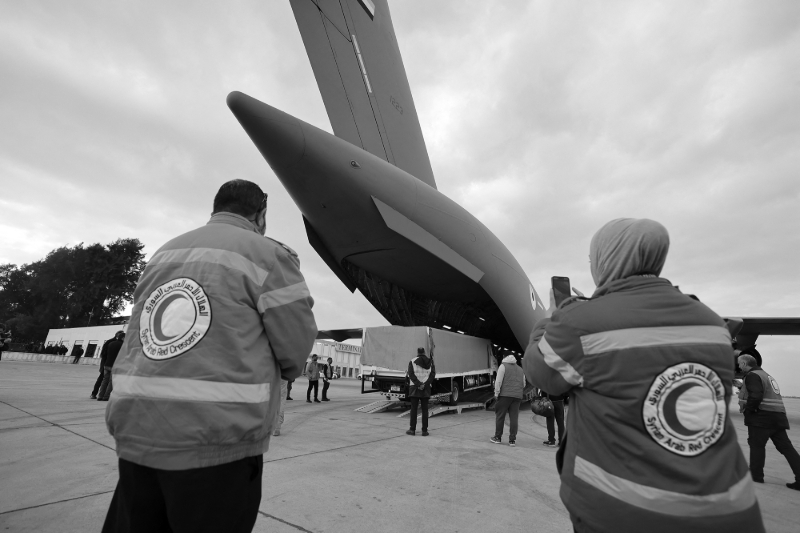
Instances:
[[[238,92],[228,105],[299,207],[312,245],[351,290],[393,324],[524,348],[544,309],[519,263],[478,219],[291,115]]]

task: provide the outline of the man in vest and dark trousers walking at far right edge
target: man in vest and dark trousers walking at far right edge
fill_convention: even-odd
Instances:
[[[781,389],[775,378],[764,372],[750,354],[739,356],[739,368],[744,372],[744,385],[739,391],[739,412],[744,413],[747,444],[750,446],[750,475],[756,483],[764,483],[764,461],[767,440],[786,458],[794,473],[790,489],[800,490],[800,455],[794,449],[786,431],[789,419],[783,405]]]

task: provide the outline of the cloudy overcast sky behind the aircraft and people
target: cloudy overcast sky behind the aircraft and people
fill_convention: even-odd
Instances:
[[[800,316],[800,2],[390,4],[438,188],[540,294],[591,292],[592,234],[670,232],[662,275],[722,315]],[[221,183],[270,194],[321,328],[383,325],[306,240],[225,105],[331,131],[288,2],[0,0],[0,262],[206,222]],[[800,395],[800,338],[762,337]]]

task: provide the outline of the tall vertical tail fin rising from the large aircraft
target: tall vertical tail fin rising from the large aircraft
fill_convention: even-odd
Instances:
[[[436,188],[386,0],[291,0],[337,137]]]

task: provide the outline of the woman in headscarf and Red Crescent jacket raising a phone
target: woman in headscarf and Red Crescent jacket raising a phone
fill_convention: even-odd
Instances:
[[[528,379],[569,393],[561,499],[578,532],[762,532],[728,417],[730,333],[658,277],[668,249],[658,222],[609,222],[590,245],[597,290],[531,334]]]

